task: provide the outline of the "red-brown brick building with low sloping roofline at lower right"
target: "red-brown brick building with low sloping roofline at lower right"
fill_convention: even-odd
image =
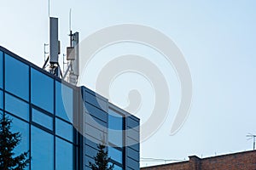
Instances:
[[[180,161],[142,170],[254,170],[256,169],[256,150],[237,152],[222,156],[199,158],[189,156],[189,161]]]

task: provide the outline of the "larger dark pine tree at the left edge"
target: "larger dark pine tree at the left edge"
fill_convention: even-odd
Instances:
[[[30,162],[29,152],[15,156],[14,149],[20,144],[21,134],[10,131],[12,121],[3,114],[0,120],[0,169],[23,170]]]

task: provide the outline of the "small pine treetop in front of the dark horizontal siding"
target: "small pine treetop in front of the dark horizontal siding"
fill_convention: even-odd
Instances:
[[[108,166],[110,162],[110,157],[108,157],[108,151],[106,150],[106,146],[104,144],[98,144],[98,152],[96,156],[94,156],[95,164],[89,162],[89,167],[92,170],[113,170],[113,164]]]

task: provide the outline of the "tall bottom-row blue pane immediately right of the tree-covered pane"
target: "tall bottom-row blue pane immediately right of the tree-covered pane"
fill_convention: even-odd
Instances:
[[[54,137],[32,126],[32,169],[54,169]]]

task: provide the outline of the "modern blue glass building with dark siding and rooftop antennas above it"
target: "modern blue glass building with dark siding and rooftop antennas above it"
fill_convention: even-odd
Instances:
[[[0,47],[0,113],[31,151],[26,169],[84,170],[96,144],[108,144],[114,169],[139,169],[139,119],[85,87],[61,81]]]

